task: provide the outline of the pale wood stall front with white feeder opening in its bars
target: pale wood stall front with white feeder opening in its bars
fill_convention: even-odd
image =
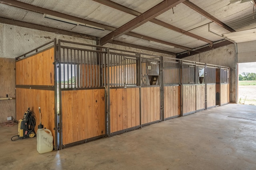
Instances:
[[[182,61],[182,115],[205,109],[205,64]]]

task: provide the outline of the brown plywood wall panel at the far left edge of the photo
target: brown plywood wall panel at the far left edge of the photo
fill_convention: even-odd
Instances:
[[[16,118],[15,114],[15,59],[0,57],[0,98],[12,98],[12,100],[0,100],[0,123],[7,121],[7,117]]]

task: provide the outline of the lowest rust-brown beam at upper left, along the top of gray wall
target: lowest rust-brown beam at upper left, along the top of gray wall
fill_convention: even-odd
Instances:
[[[34,23],[28,23],[28,22],[24,22],[24,21],[12,20],[12,19],[9,19],[9,18],[0,17],[0,23],[6,23],[6,24],[16,25],[16,26],[20,26],[20,27],[37,29],[37,30],[52,32],[52,33],[56,33],[56,34],[69,35],[69,36],[72,36],[72,37],[92,39],[92,40],[95,40],[95,41],[97,40],[96,37],[93,37],[93,36],[90,36],[90,35],[75,33],[75,32],[66,31],[66,30],[63,30],[63,29],[46,27],[44,25],[37,25],[37,24],[34,24]]]

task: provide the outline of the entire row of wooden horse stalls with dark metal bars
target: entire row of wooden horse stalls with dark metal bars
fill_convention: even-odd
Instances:
[[[206,74],[207,73],[207,74]],[[16,57],[16,119],[30,107],[54,149],[229,102],[229,68],[50,41]]]

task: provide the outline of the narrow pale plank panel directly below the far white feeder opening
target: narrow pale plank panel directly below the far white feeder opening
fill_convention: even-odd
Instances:
[[[205,109],[205,84],[196,85],[196,110]]]

